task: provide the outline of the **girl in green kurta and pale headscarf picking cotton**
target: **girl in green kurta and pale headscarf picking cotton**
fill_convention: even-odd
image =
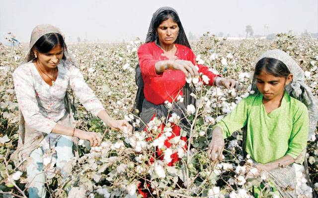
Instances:
[[[208,156],[212,160],[222,160],[224,139],[244,128],[243,149],[256,162],[256,168],[272,173],[273,177],[286,176],[282,186],[295,189],[292,164],[306,150],[307,106],[312,107],[313,124],[317,123],[317,101],[304,83],[301,68],[287,53],[278,49],[269,50],[259,58],[252,85],[255,94],[242,99],[214,127]],[[286,192],[276,188],[282,197],[296,197],[293,190]]]

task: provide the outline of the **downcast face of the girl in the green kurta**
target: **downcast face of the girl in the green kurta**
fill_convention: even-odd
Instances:
[[[286,79],[285,77],[268,74],[264,69],[255,77],[257,89],[265,100],[281,99],[284,95],[285,86],[293,79],[292,74]]]

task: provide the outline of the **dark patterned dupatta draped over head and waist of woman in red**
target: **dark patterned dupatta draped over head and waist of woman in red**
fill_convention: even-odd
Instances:
[[[160,7],[153,14],[152,20],[151,20],[150,25],[149,25],[149,29],[148,29],[145,43],[156,42],[156,44],[158,46],[160,46],[159,38],[157,35],[157,30],[155,30],[155,28],[154,28],[154,23],[157,20],[158,15],[161,12],[166,11],[166,10],[171,10],[178,16],[178,13],[172,7]],[[179,25],[179,34],[178,34],[177,39],[175,40],[174,43],[186,46],[186,47],[191,49],[181,22]],[[144,80],[143,80],[142,75],[141,75],[141,70],[140,70],[139,64],[136,67],[135,79],[136,79],[136,84],[138,86],[138,91],[137,91],[135,104],[134,104],[134,109],[137,109],[138,111],[135,114],[139,116],[140,113],[143,111],[143,115],[141,116],[141,118],[142,118],[142,121],[145,122],[146,124],[151,120],[151,118],[154,116],[155,113],[156,113],[157,117],[167,116],[168,109],[164,106],[164,104],[155,105],[155,104],[153,104],[145,99]],[[183,111],[185,110],[184,107],[186,107],[189,104],[195,104],[195,99],[190,96],[190,94],[192,93],[192,89],[190,88],[190,85],[188,83],[185,84],[185,86],[182,88],[182,91],[183,91],[183,97],[184,97],[183,104],[173,105],[171,108],[171,111],[175,112],[180,117],[184,117],[183,116],[183,113],[184,113]],[[185,119],[183,119],[183,120],[185,120]],[[183,123],[183,126],[185,126],[185,125],[187,125],[187,123]],[[139,128],[139,131],[142,131],[144,128],[145,128],[145,125],[141,126]]]

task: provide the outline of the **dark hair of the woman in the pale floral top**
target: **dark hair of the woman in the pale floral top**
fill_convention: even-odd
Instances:
[[[59,33],[48,33],[40,37],[33,48],[39,51],[40,53],[47,53],[51,49],[55,48],[57,45],[60,45],[65,51],[67,51],[66,44],[64,42],[63,36]],[[32,59],[34,58],[34,54],[30,54]],[[62,59],[66,59],[65,54],[63,54]]]

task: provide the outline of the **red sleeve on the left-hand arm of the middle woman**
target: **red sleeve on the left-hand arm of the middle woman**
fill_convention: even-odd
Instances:
[[[141,45],[138,49],[139,66],[141,73],[145,76],[161,76],[157,74],[156,63],[159,60],[154,59],[153,50],[149,45]]]

